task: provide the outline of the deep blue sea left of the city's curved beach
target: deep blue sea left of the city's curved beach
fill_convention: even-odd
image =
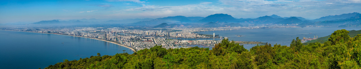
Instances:
[[[134,53],[131,49],[90,38],[0,30],[0,69],[38,69],[101,55]],[[62,44],[64,43],[64,44]]]

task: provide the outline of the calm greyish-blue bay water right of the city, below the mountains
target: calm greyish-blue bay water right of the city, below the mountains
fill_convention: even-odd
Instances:
[[[299,37],[302,39],[314,38],[314,36],[323,37],[331,35],[334,31],[361,30],[361,28],[336,28],[336,27],[308,27],[308,28],[270,28],[270,29],[238,29],[238,30],[218,30],[218,31],[201,31],[199,34],[220,35],[223,38],[228,37],[229,40],[235,41],[261,41],[270,44],[280,44],[290,46],[291,41]],[[238,37],[236,35],[243,35]],[[212,38],[213,39],[213,38]],[[210,40],[212,40],[210,39]],[[219,40],[214,39],[214,40]],[[256,44],[245,44],[246,49],[251,49]]]

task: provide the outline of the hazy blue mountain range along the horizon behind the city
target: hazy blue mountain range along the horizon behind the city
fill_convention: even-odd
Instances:
[[[236,19],[228,14],[213,14],[206,17],[186,17],[186,16],[168,16],[157,19],[124,19],[97,21],[97,19],[80,20],[49,20],[39,21],[32,24],[126,24],[137,26],[153,26],[156,28],[173,27],[230,27],[230,26],[248,26],[248,25],[297,25],[297,26],[339,26],[339,27],[360,27],[360,13],[348,13],[341,15],[329,15],[314,20],[308,20],[302,17],[281,17],[278,15],[261,16],[255,19],[240,18]],[[168,25],[161,25],[166,23]],[[159,25],[159,26],[158,26]]]

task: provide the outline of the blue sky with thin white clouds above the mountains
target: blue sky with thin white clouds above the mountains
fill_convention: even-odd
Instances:
[[[0,24],[54,19],[144,19],[229,14],[235,18],[265,15],[322,16],[361,13],[361,0],[0,0]]]

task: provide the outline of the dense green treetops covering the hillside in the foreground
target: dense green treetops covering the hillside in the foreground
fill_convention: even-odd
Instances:
[[[350,38],[337,30],[325,43],[303,45],[300,39],[290,46],[243,45],[222,40],[208,48],[165,49],[154,46],[134,54],[91,56],[57,63],[45,69],[360,69],[361,34]]]

